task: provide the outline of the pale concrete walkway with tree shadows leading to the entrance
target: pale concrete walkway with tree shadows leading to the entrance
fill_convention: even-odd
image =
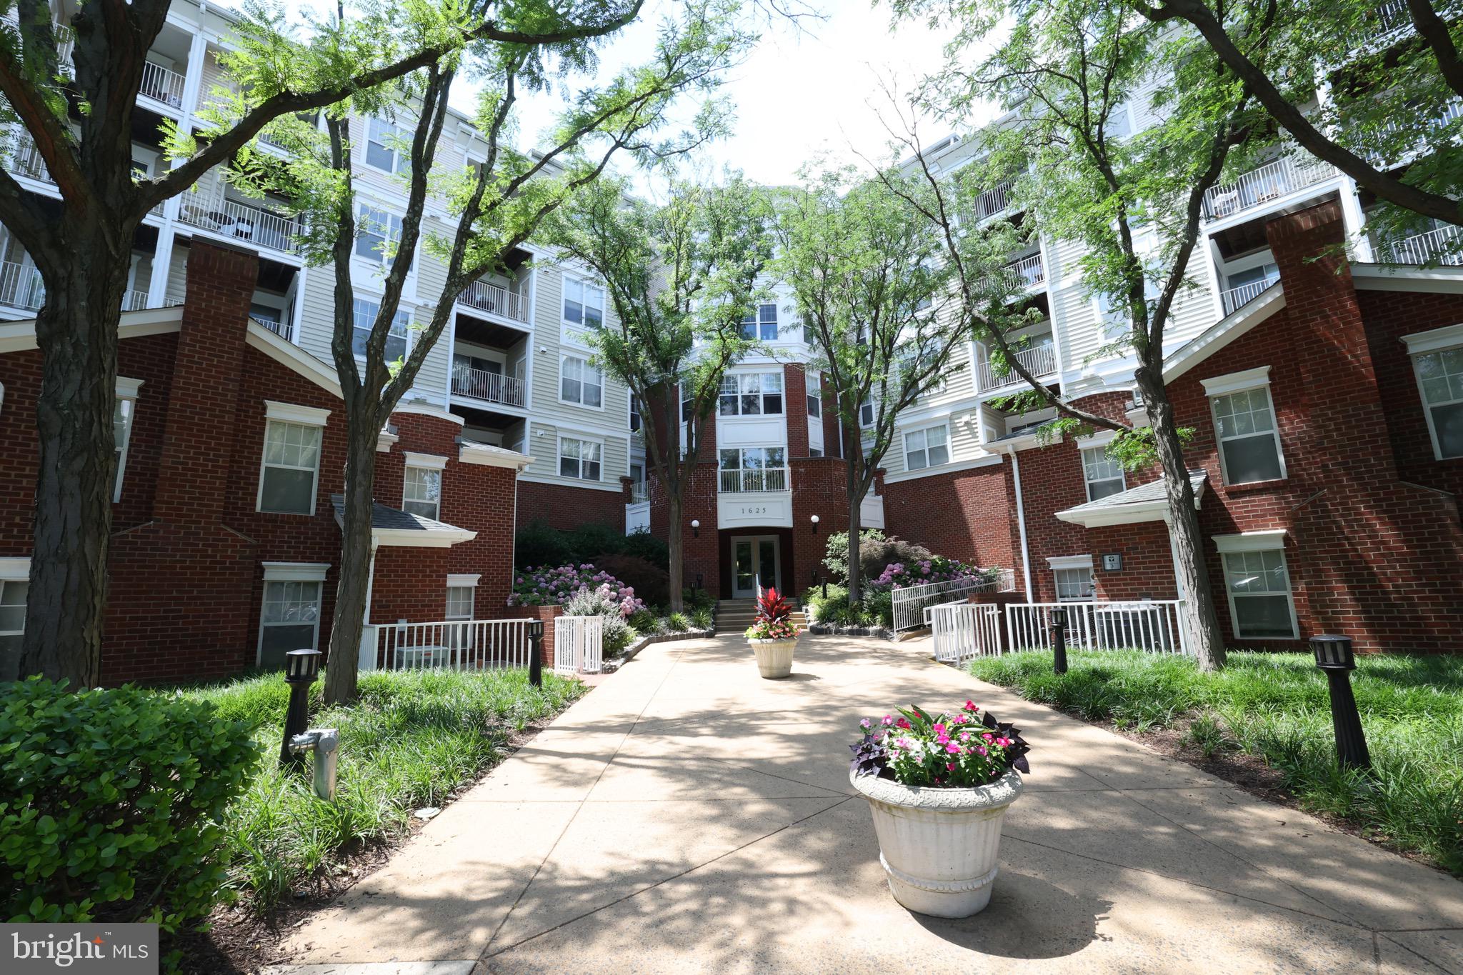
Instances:
[[[293,972],[1463,972],[1463,884],[923,656],[661,643],[288,946]],[[888,893],[847,744],[974,697],[1033,744],[990,906]],[[432,962],[432,963],[427,963]]]

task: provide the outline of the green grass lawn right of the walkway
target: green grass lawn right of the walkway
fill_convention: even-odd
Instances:
[[[1302,808],[1339,816],[1368,836],[1463,877],[1463,658],[1359,656],[1352,686],[1374,775],[1336,765],[1325,677],[1309,653],[1229,653],[1201,672],[1192,659],[1072,652],[1052,672],[1040,652],[977,658],[970,672],[1028,700],[1135,731],[1191,721],[1201,751],[1238,748],[1280,770]]]

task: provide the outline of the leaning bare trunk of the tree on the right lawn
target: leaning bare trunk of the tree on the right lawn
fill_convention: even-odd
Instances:
[[[1173,424],[1173,405],[1160,382],[1138,370],[1138,386],[1153,422],[1153,443],[1163,465],[1165,494],[1169,501],[1169,534],[1173,538],[1175,572],[1184,583],[1184,626],[1188,645],[1204,671],[1225,667],[1225,639],[1214,611],[1214,593],[1208,585],[1208,563],[1204,558],[1204,535],[1194,510],[1194,488],[1184,462],[1184,446]]]

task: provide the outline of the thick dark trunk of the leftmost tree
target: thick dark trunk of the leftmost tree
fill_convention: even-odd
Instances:
[[[95,222],[95,218],[94,218]],[[116,441],[117,326],[127,260],[101,232],[72,237],[35,320],[40,472],[18,675],[101,680]],[[3,677],[3,674],[0,674]]]

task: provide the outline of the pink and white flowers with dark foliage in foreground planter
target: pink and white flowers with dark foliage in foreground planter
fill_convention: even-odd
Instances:
[[[859,721],[863,738],[849,746],[854,775],[969,789],[995,782],[1011,767],[1031,770],[1021,732],[982,713],[973,700],[954,715],[930,716],[913,705],[897,712]]]

